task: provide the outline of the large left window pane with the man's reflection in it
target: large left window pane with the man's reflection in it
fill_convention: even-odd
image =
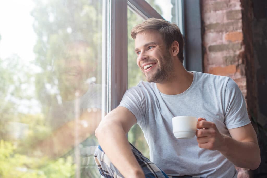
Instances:
[[[0,22],[0,177],[100,177],[102,0],[1,1]]]

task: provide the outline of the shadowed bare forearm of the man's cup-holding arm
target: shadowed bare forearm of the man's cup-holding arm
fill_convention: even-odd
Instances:
[[[240,142],[224,135],[224,147],[219,150],[234,165],[241,168],[256,169],[260,164],[260,149],[254,142]]]

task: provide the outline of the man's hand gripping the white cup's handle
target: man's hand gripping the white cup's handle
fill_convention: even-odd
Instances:
[[[198,118],[196,136],[198,146],[209,150],[222,150],[225,146],[225,137],[217,129],[213,122],[206,121],[205,118]]]

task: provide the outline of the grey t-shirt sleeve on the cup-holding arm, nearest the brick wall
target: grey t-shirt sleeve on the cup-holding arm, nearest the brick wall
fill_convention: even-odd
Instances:
[[[229,78],[225,89],[225,125],[227,129],[250,123],[245,98],[237,84]]]

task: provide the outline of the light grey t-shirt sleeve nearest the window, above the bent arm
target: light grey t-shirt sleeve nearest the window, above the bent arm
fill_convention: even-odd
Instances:
[[[127,108],[136,117],[137,124],[141,125],[147,109],[147,97],[139,86],[128,89],[119,104]]]

